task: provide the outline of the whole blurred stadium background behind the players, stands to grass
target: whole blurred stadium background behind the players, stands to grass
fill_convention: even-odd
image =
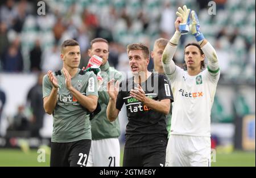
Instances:
[[[41,1],[45,15],[38,14],[43,7],[38,2],[0,2],[0,166],[49,166],[52,116],[42,114],[40,74],[61,68],[59,45],[65,39],[79,41],[81,67],[88,62],[89,41],[108,39],[110,65],[128,71],[126,45],[142,42],[152,49],[155,39],[170,39],[182,5],[197,12],[220,62],[212,108],[212,166],[255,166],[254,0],[48,0]],[[216,14],[209,15],[214,7]],[[188,41],[195,41],[192,35],[181,37],[175,55],[179,65]],[[153,67],[151,60],[148,68]],[[119,116],[121,143],[125,115]],[[46,162],[38,162],[39,148],[46,150]]]

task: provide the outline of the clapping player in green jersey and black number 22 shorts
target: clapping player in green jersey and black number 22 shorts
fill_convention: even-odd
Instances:
[[[61,45],[63,69],[43,78],[44,110],[53,115],[50,166],[86,166],[92,134],[89,114],[98,101],[97,79],[79,69],[80,47],[75,40]]]

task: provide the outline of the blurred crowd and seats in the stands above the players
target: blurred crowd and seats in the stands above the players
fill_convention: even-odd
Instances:
[[[38,2],[0,2],[0,72],[59,70],[65,39],[79,41],[85,66],[94,37],[110,42],[110,65],[128,70],[126,45],[142,42],[152,48],[158,37],[170,39],[176,9],[185,4],[197,12],[201,31],[217,50],[222,79],[255,83],[254,0],[215,0],[212,15],[207,0],[48,0],[45,15],[38,15]],[[193,40],[183,36],[181,44]],[[179,46],[175,60],[183,63],[184,45]]]

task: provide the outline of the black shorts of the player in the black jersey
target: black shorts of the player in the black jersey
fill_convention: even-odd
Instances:
[[[123,167],[164,167],[166,143],[144,147],[125,148]]]

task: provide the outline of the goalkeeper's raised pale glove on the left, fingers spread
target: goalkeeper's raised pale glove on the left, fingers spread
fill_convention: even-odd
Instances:
[[[187,34],[189,32],[190,9],[187,9],[186,5],[183,6],[183,9],[179,7],[178,11],[176,12],[176,15],[182,18],[182,22],[179,25],[181,35]]]

